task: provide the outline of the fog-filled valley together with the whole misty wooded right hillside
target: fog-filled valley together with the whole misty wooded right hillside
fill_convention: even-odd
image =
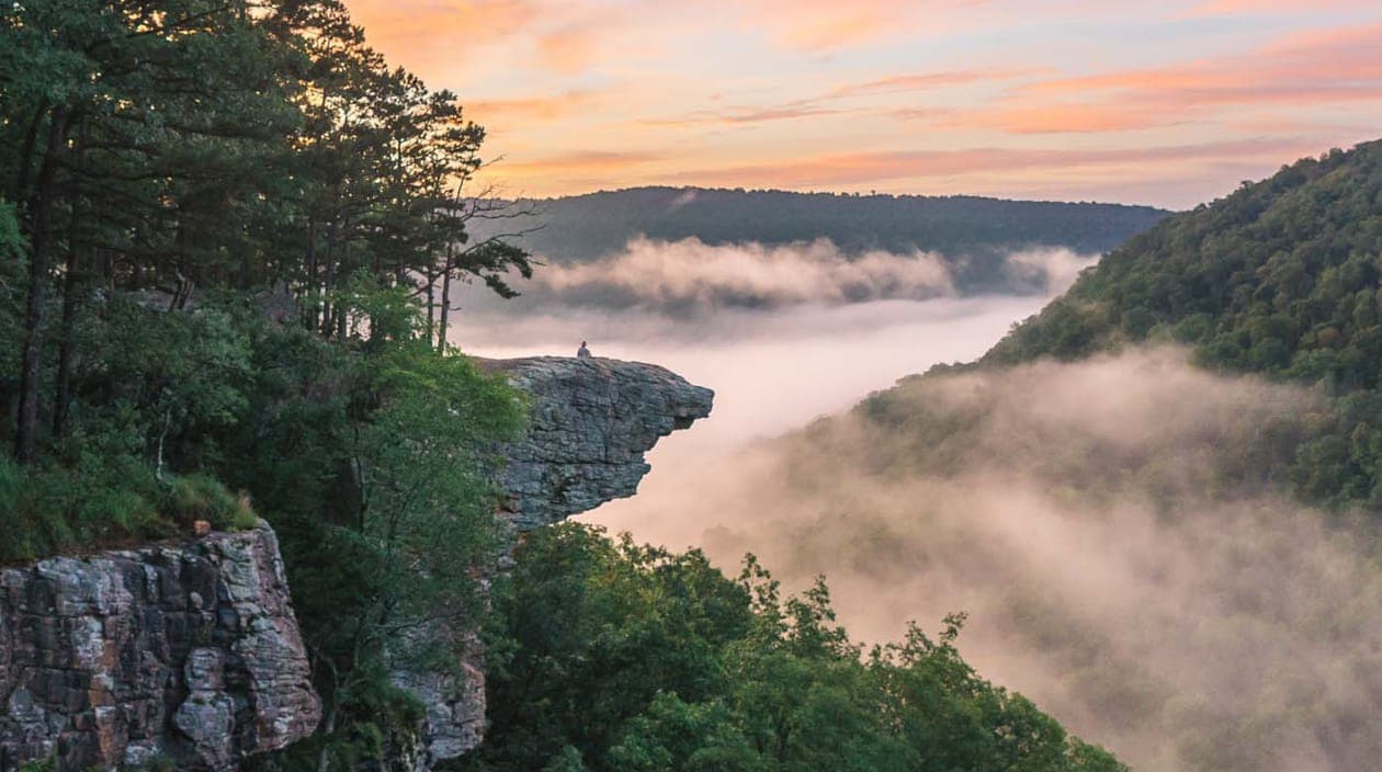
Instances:
[[[1006,253],[1007,296],[937,253],[638,238],[547,267],[504,345],[569,331],[720,388],[590,522],[825,576],[868,639],[966,612],[976,667],[1135,768],[1365,768],[1376,157],[1306,159],[1100,268]]]

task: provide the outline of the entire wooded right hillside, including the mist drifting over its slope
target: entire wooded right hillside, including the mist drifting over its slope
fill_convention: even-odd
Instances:
[[[1379,153],[1168,218],[976,363],[724,454],[669,447],[594,519],[828,576],[878,639],[969,612],[980,670],[1133,768],[1367,768]]]

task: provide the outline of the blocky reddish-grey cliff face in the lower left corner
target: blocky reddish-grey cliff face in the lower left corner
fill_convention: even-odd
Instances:
[[[0,570],[0,772],[234,769],[321,703],[268,526]]]

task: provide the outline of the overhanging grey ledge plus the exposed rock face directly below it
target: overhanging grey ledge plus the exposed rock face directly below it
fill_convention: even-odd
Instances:
[[[532,398],[524,436],[500,450],[509,460],[499,476],[509,492],[502,515],[520,532],[633,496],[651,468],[644,453],[709,416],[714,398],[708,388],[638,362],[538,356],[478,363],[504,373]],[[470,634],[467,644],[471,655],[459,674],[394,673],[394,684],[427,706],[416,771],[464,754],[484,736],[482,652]]]

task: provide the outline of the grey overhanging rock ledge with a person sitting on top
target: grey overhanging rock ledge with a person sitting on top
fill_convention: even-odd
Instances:
[[[714,392],[656,365],[616,359],[481,360],[532,395],[529,428],[504,450],[500,485],[520,530],[633,496],[659,438],[710,414]]]

